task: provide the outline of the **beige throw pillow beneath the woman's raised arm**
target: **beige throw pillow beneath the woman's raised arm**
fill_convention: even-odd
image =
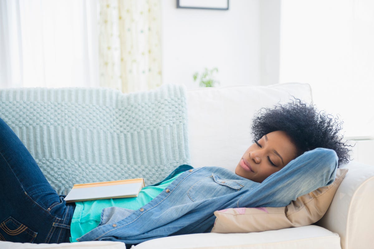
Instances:
[[[301,227],[317,222],[330,206],[348,169],[337,169],[335,181],[298,197],[285,207],[229,208],[215,211],[212,233],[250,233]]]

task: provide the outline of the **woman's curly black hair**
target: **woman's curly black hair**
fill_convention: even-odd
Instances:
[[[297,147],[297,156],[315,148],[328,148],[336,152],[338,165],[349,162],[349,149],[341,142],[343,122],[325,111],[318,111],[313,104],[300,99],[292,100],[274,108],[261,108],[252,120],[254,141],[265,134],[282,130]]]

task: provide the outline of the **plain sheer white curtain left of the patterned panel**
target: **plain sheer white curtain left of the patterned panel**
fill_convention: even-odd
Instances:
[[[96,1],[1,0],[0,87],[99,86]]]

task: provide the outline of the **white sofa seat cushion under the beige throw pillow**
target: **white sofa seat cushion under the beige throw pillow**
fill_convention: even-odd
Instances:
[[[336,233],[309,225],[260,233],[199,233],[148,240],[134,249],[341,249]]]

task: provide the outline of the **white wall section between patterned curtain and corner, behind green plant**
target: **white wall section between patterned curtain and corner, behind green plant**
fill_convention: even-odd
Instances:
[[[163,83],[194,88],[195,72],[217,67],[220,86],[260,84],[260,0],[230,0],[229,10],[161,4]]]

